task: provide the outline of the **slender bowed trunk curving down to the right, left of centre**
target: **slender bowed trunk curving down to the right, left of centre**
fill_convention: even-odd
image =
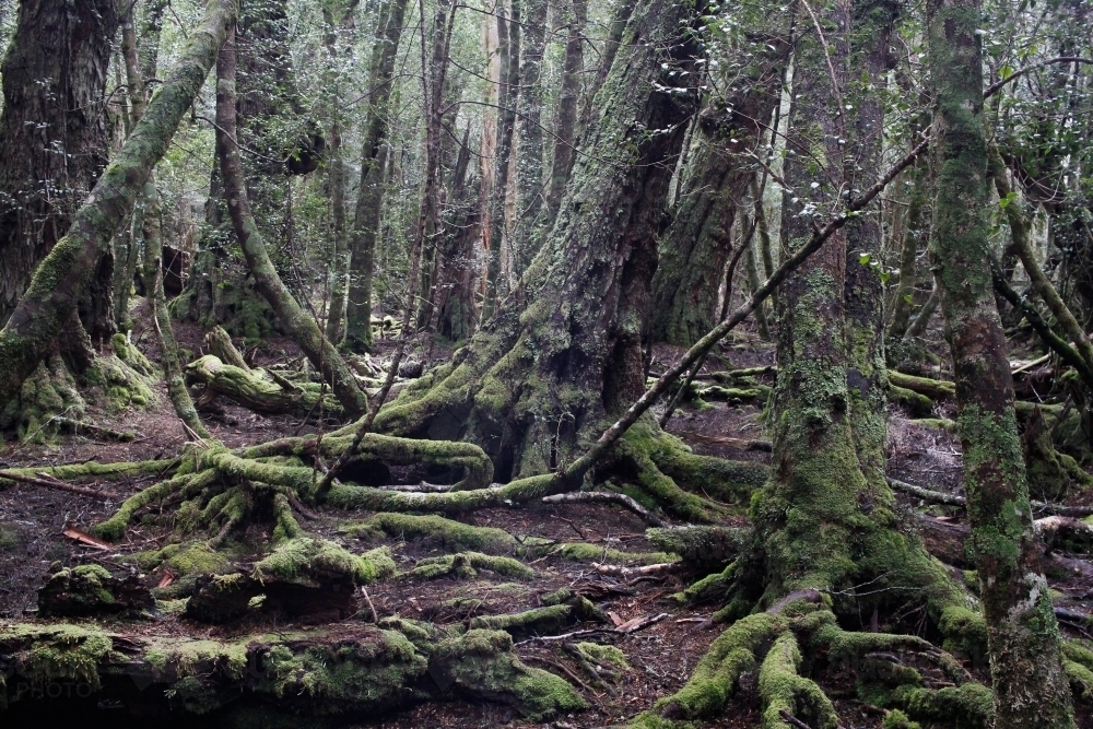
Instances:
[[[351,416],[367,411],[368,401],[349,366],[322,336],[319,325],[299,306],[281,281],[255,224],[244,184],[239,146],[236,143],[235,34],[230,32],[216,60],[216,156],[224,175],[232,226],[258,291],[273,308],[285,333],[299,345],[312,364],[322,373],[338,401]]]

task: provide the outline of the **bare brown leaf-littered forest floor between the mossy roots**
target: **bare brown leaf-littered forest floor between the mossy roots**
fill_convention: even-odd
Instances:
[[[197,353],[202,331],[179,325],[177,334],[184,349]],[[151,337],[134,332],[139,343],[153,361],[157,352],[149,344]],[[434,352],[434,357],[444,352]],[[670,364],[680,351],[658,348],[653,371]],[[284,340],[273,339],[256,353],[257,365],[297,357],[298,352]],[[757,341],[738,340],[721,349],[721,362],[707,368],[725,368],[726,363],[736,367],[774,364],[774,350]],[[773,384],[773,383],[772,383]],[[125,413],[92,411],[90,419],[111,427],[131,431],[137,438],[130,443],[99,442],[81,435],[64,435],[50,445],[0,443],[0,467],[54,466],[59,463],[96,460],[99,462],[133,461],[171,458],[180,452],[186,436],[174,415],[166,392],[161,389],[158,401],[146,410]],[[224,444],[236,447],[270,440],[275,437],[317,432],[315,423],[302,423],[293,416],[266,418],[256,415],[232,403],[220,401],[215,414],[204,420],[212,434]],[[329,430],[329,426],[327,426]],[[755,404],[708,403],[702,409],[682,408],[672,419],[670,432],[683,438],[696,452],[736,460],[769,461],[769,454],[744,450],[739,440],[761,439],[763,435],[762,410]],[[942,431],[920,427],[893,412],[890,424],[889,471],[896,478],[929,484],[932,487],[959,490],[961,456],[955,437]],[[401,483],[416,483],[427,474],[416,469],[395,469],[392,477]],[[110,516],[121,499],[154,482],[154,477],[115,483],[108,499],[98,499],[35,485],[16,484],[0,486],[0,623],[33,619],[37,605],[37,590],[48,574],[57,567],[97,563],[118,569],[115,554],[146,551],[162,545],[171,537],[169,530],[133,526],[126,541],[117,544],[116,552],[85,545],[62,532],[67,526],[86,530]],[[906,508],[922,505],[900,496]],[[740,524],[747,518],[747,504],[736,505],[733,517]],[[930,507],[935,516],[959,521],[957,509]],[[348,539],[338,527],[348,519],[361,519],[361,513],[346,513],[324,508],[318,519],[307,522],[309,532],[338,541],[351,551],[361,552],[386,543],[395,556],[399,572],[412,568],[420,560],[449,553],[430,539],[371,541],[367,544]],[[648,553],[656,549],[645,538],[646,525],[631,512],[607,504],[534,504],[519,508],[487,508],[462,515],[460,520],[475,525],[505,529],[522,539],[540,537],[553,540],[561,546],[567,542],[593,544],[604,549]],[[265,533],[247,536],[260,542]],[[601,557],[602,560],[602,557]],[[430,702],[415,708],[380,717],[346,719],[343,726],[388,727],[411,729],[419,727],[600,727],[624,721],[650,708],[654,703],[680,689],[710,642],[721,632],[722,625],[710,622],[709,615],[719,605],[696,609],[681,607],[672,595],[694,580],[694,575],[668,572],[649,576],[615,577],[601,574],[588,562],[563,558],[552,551],[526,562],[534,571],[534,578],[514,581],[489,571],[475,579],[444,577],[427,581],[389,579],[368,587],[367,595],[379,618],[401,615],[428,620],[438,624],[469,621],[479,614],[504,614],[539,607],[543,596],[561,587],[569,587],[591,599],[608,612],[612,621],[653,621],[640,630],[627,633],[599,623],[574,624],[568,631],[600,630],[601,637],[614,643],[630,665],[618,679],[607,679],[596,685],[581,672],[581,667],[562,648],[562,642],[542,639],[534,635],[517,637],[516,651],[529,666],[548,669],[574,684],[591,708],[587,712],[556,717],[549,725],[526,724],[513,709],[489,702]],[[164,578],[161,572],[144,576],[150,586]],[[1068,584],[1055,586],[1068,604],[1089,612],[1093,608],[1093,584],[1076,577]],[[342,621],[350,626],[361,621],[371,622],[372,609],[359,601],[361,612]],[[869,630],[869,615],[862,616],[860,626]],[[210,626],[168,614],[149,615],[143,620],[107,621],[109,630],[139,639],[142,635],[188,635],[201,638],[231,638],[245,633],[310,630],[307,624],[293,624],[283,618],[262,615],[245,619],[242,623]],[[329,627],[329,624],[325,625]],[[1068,630],[1078,630],[1073,626]],[[1080,635],[1078,633],[1077,635]],[[982,671],[980,671],[980,678]],[[743,690],[724,715],[705,727],[752,727],[757,722],[759,697],[754,685],[743,682]],[[754,682],[752,682],[754,684]],[[836,706],[848,729],[872,729],[880,726],[881,717],[869,707],[856,702],[853,682],[846,677],[828,677],[821,684],[828,695],[836,697]],[[604,690],[603,686],[610,686]],[[98,705],[104,708],[103,703]],[[119,713],[114,713],[119,716]],[[85,717],[86,718],[86,717]],[[136,720],[136,719],[134,719]],[[179,717],[178,726],[207,726],[200,718]],[[8,724],[4,726],[16,726]],[[32,726],[32,725],[27,725]],[[33,726],[46,726],[35,721]],[[82,726],[82,725],[80,725]],[[114,727],[127,726],[126,720],[111,722]],[[134,725],[136,726],[136,725]],[[924,725],[930,726],[930,725]],[[956,725],[932,725],[955,727]],[[1086,724],[1085,726],[1093,726]]]

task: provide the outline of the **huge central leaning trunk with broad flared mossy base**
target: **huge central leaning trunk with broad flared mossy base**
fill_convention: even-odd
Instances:
[[[690,17],[678,3],[639,3],[548,244],[469,345],[386,408],[377,430],[475,442],[507,480],[562,465],[644,391],[657,225],[696,102],[671,89],[693,71],[680,38]]]

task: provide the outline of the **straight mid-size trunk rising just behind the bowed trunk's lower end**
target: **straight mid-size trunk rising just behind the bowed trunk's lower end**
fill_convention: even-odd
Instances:
[[[350,283],[345,314],[345,342],[355,352],[372,348],[372,274],[376,259],[379,211],[384,203],[387,110],[391,78],[402,37],[407,0],[388,0],[380,11],[383,34],[372,49],[372,73],[365,121],[361,191],[350,231]]]

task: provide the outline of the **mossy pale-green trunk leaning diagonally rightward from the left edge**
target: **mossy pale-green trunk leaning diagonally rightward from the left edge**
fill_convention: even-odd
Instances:
[[[11,401],[57,339],[85,294],[99,260],[132,213],[152,168],[167,151],[216,52],[235,23],[236,3],[210,0],[178,63],[149,104],[148,113],[95,184],[83,207],[35,271],[31,286],[0,331],[0,402]]]

